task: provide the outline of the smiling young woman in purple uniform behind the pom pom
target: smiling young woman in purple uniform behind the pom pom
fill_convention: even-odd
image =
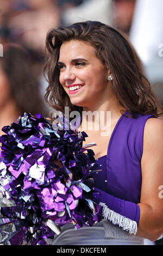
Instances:
[[[46,100],[62,113],[65,106],[78,111],[86,144],[97,144],[93,176],[104,216],[77,231],[67,225],[52,244],[155,241],[163,233],[161,106],[128,41],[101,22],[86,21],[52,29],[46,46]]]

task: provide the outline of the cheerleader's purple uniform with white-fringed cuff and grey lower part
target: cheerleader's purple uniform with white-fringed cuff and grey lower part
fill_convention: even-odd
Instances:
[[[128,115],[127,112],[124,114]],[[91,169],[94,172],[91,176],[95,178],[95,189],[101,192],[104,209],[102,229],[101,225],[97,227],[96,224],[90,230],[87,227],[74,231],[73,227],[68,227],[58,236],[56,245],[79,245],[81,241],[89,245],[112,245],[114,239],[116,245],[123,242],[136,245],[136,239],[142,239],[136,237],[140,220],[137,203],[140,202],[141,194],[143,131],[147,119],[152,117],[153,115],[135,114],[135,118],[128,118],[121,115],[111,134],[107,155],[99,157],[93,163]],[[103,229],[104,233],[101,233]],[[134,238],[129,233],[134,234]],[[101,239],[102,242],[99,242]]]

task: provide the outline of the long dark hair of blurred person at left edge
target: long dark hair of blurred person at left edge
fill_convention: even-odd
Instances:
[[[40,84],[34,75],[32,59],[26,48],[17,44],[6,44],[0,64],[20,112],[47,116],[45,99],[41,95]]]

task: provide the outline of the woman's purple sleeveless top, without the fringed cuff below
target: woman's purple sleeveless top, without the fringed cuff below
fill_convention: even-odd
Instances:
[[[154,116],[135,114],[134,118],[129,118],[124,115],[129,113],[125,111],[118,119],[110,137],[107,155],[99,157],[93,166],[93,170],[102,170],[94,172],[92,176],[99,190],[137,204],[141,194],[143,131],[147,119]]]

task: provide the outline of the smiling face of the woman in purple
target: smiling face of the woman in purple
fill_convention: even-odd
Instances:
[[[107,99],[108,70],[96,57],[93,46],[78,40],[64,42],[58,66],[59,81],[73,105],[92,108]]]

